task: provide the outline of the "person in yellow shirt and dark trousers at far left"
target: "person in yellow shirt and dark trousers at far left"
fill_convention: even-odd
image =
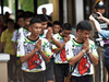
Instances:
[[[13,35],[14,30],[14,21],[11,19],[7,20],[7,25],[8,28],[2,32],[1,34],[1,43],[0,43],[0,52],[3,49],[3,52],[9,54],[10,55],[10,60],[8,62],[8,75],[9,75],[9,82],[14,81],[14,72],[13,72],[13,66],[16,66],[15,61],[16,61],[16,56],[15,52],[12,48],[11,45],[11,38]]]

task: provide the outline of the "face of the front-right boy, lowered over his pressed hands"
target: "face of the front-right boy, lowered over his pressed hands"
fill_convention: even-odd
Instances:
[[[82,40],[82,42],[85,42],[87,38],[89,38],[90,36],[90,31],[81,31],[78,30],[77,31],[77,37]]]

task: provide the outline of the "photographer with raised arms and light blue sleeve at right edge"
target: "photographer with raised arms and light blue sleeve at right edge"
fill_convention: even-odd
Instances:
[[[98,12],[98,14],[99,14],[99,17],[97,17],[97,19],[101,19],[101,20],[104,20],[105,22],[107,22],[109,24],[109,19],[102,16],[101,13],[99,13],[99,12]],[[101,30],[99,23],[95,20],[95,17],[93,15],[89,16],[89,20],[94,22],[97,32],[102,37],[107,37],[107,38],[109,37],[109,31]],[[105,67],[108,71],[108,75],[109,75],[109,47],[106,48],[104,58],[105,58],[104,59],[105,60]],[[109,82],[109,79],[108,79],[108,82]]]

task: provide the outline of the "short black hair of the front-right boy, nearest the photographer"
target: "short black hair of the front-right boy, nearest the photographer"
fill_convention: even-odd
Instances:
[[[76,32],[81,30],[81,31],[92,31],[92,25],[89,23],[89,21],[85,20],[85,21],[81,21],[77,25],[76,25]]]

